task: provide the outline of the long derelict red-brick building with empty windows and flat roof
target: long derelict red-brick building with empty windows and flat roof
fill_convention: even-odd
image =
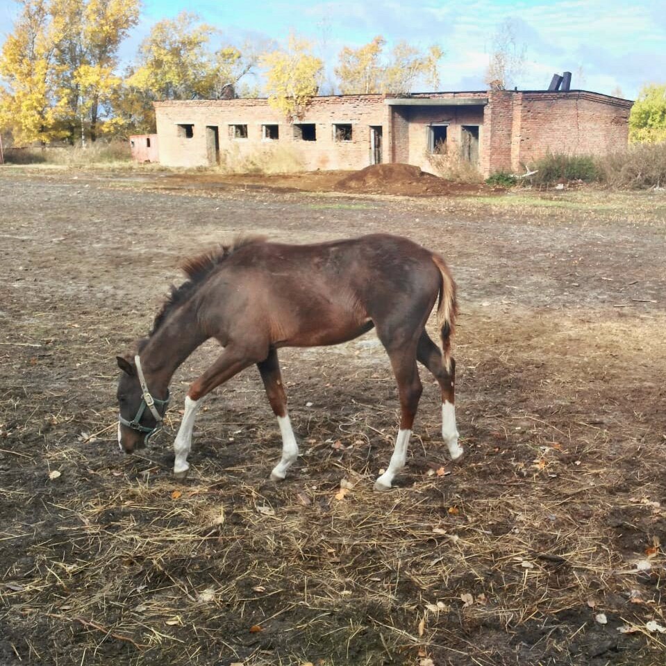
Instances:
[[[626,147],[632,103],[585,90],[337,95],[315,97],[294,122],[267,99],[154,106],[160,163],[167,166],[271,159],[283,150],[306,171],[399,162],[435,173],[447,156],[460,156],[488,176],[522,172],[548,151]]]

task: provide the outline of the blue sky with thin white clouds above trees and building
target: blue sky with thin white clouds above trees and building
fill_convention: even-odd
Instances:
[[[181,10],[219,27],[228,42],[284,40],[290,30],[319,42],[334,65],[344,45],[360,46],[381,34],[444,48],[442,90],[483,88],[492,35],[510,19],[526,47],[518,88],[546,88],[554,72],[574,73],[572,88],[610,94],[619,86],[634,98],[644,83],[666,82],[666,0],[144,0],[142,22],[122,50],[133,58],[150,26]],[[0,40],[10,31],[15,3],[0,0]]]

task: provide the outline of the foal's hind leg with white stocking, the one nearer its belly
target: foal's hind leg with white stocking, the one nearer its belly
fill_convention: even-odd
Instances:
[[[375,481],[375,490],[390,490],[396,474],[401,472],[405,466],[414,417],[423,392],[414,347],[410,345],[391,351],[387,349],[387,351],[398,383],[400,428],[388,469]]]

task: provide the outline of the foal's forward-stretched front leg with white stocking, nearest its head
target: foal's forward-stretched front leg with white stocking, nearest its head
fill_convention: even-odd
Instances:
[[[181,427],[178,428],[178,434],[174,441],[174,453],[176,454],[174,476],[176,478],[183,479],[188,475],[190,469],[188,456],[192,448],[192,431],[194,430],[194,421],[197,419],[197,410],[201,406],[203,397],[235,374],[241,372],[241,370],[256,363],[256,358],[256,354],[247,353],[247,350],[236,349],[230,345],[224,349],[206,372],[192,382],[185,397],[185,415],[183,415]]]

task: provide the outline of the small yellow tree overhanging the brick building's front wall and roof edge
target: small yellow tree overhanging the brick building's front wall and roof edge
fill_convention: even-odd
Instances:
[[[264,53],[260,64],[266,70],[268,103],[288,118],[302,117],[324,74],[324,63],[313,56],[312,44],[292,33],[285,49]]]

